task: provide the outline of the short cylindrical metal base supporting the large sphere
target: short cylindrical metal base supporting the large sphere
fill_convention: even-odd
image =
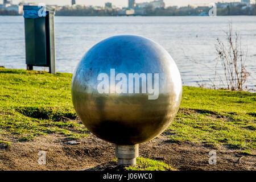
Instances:
[[[115,156],[118,166],[136,165],[136,158],[139,156],[139,144],[130,146],[115,145]]]

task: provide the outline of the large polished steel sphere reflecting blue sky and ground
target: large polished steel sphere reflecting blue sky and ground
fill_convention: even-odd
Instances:
[[[182,84],[162,46],[142,36],[118,35],[86,52],[71,92],[77,115],[93,134],[131,145],[155,138],[170,125],[179,110]]]

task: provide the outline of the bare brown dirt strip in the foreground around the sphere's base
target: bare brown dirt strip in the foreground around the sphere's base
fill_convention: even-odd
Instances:
[[[7,138],[3,138],[7,140]],[[8,138],[11,141],[11,138]],[[117,169],[114,144],[89,134],[77,144],[51,134],[31,142],[12,141],[0,147],[1,170],[103,170]],[[217,152],[217,164],[209,164],[209,151]],[[39,165],[39,151],[46,151],[46,165]],[[178,170],[256,170],[254,155],[230,148],[213,149],[204,143],[174,142],[164,135],[140,144],[139,155],[170,164]]]

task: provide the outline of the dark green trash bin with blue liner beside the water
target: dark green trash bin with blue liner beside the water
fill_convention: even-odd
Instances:
[[[43,6],[23,6],[25,22],[26,64],[27,69],[33,66],[49,67],[55,71],[55,9]]]

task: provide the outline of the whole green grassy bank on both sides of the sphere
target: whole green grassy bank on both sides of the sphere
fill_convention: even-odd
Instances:
[[[71,100],[72,74],[0,68],[0,143],[62,133],[86,137]],[[164,132],[174,142],[203,142],[255,150],[255,93],[183,87],[175,121]]]

